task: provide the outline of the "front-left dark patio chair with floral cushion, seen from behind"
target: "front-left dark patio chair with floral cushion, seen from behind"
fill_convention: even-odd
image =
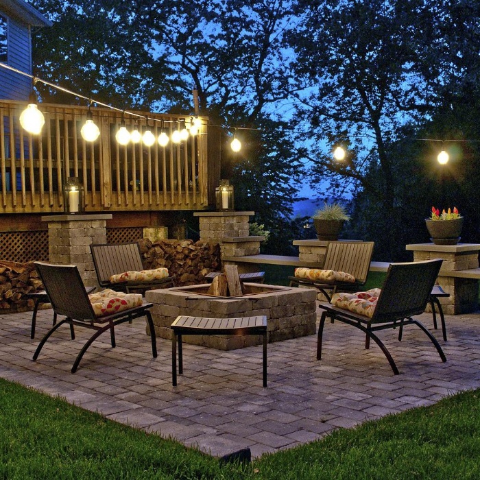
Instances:
[[[106,292],[93,293],[92,295],[100,298],[98,303],[93,305],[76,265],[53,265],[44,262],[35,262],[35,265],[45,291],[47,291],[54,313],[56,315],[64,315],[65,318],[53,325],[40,341],[35,350],[34,360],[38,358],[40,350],[42,350],[49,337],[63,324],[69,324],[72,340],[75,339],[74,325],[91,328],[95,330],[95,333],[86,341],[77,355],[71,369],[71,372],[75,373],[86,350],[93,344],[95,339],[109,330],[112,348],[115,348],[115,326],[131,322],[139,317],[147,317],[151,332],[152,355],[156,358],[154,324],[152,315],[148,310],[153,304],[143,302],[141,294],[125,294],[112,290],[109,292],[117,293],[117,296],[108,296]],[[134,304],[134,306],[132,307],[131,304]]]

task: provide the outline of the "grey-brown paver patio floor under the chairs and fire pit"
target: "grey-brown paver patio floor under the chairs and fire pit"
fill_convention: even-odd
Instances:
[[[38,312],[33,340],[31,312],[6,314],[0,315],[0,376],[215,456],[249,447],[259,457],[480,387],[479,313],[446,316],[446,342],[434,331],[446,363],[418,328],[407,327],[402,342],[394,331],[381,332],[397,376],[376,345],[363,349],[360,331],[328,323],[321,361],[315,359],[316,335],[268,345],[267,388],[261,346],[225,352],[189,344],[184,374],[172,387],[171,343],[158,339],[152,359],[142,319],[117,328],[117,348],[108,333],[100,337],[71,374],[86,329],[76,328],[72,341],[69,328],[60,328],[34,362],[53,312]],[[432,327],[431,314],[420,320]]]

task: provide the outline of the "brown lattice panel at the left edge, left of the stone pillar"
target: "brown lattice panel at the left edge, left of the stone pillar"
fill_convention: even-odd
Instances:
[[[19,263],[48,261],[48,231],[1,232],[0,259]]]

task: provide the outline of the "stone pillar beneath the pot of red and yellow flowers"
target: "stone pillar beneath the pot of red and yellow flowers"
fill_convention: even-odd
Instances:
[[[450,297],[440,298],[444,313],[457,315],[477,310],[479,281],[475,278],[453,276],[453,272],[479,267],[480,244],[457,243],[457,245],[435,245],[434,243],[416,243],[407,245],[413,251],[413,261],[443,259],[437,281],[440,287],[450,293]],[[451,275],[442,275],[450,272]]]

